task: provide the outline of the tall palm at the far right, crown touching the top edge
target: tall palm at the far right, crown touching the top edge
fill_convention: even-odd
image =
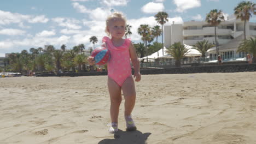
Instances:
[[[249,1],[242,1],[235,7],[234,11],[236,19],[244,21],[243,34],[245,35],[246,39],[246,21],[250,20],[252,13],[256,15],[256,4]]]

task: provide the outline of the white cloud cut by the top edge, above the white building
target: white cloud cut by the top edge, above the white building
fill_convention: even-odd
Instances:
[[[183,12],[184,10],[201,7],[200,0],[173,0],[174,4],[177,5],[177,11]]]

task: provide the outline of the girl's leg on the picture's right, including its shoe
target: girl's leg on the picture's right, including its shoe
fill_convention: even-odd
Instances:
[[[128,77],[123,83],[122,90],[125,98],[125,120],[127,131],[136,130],[135,123],[131,118],[131,113],[133,107],[135,105],[136,100],[136,91],[135,91],[135,83],[133,81],[132,76]]]

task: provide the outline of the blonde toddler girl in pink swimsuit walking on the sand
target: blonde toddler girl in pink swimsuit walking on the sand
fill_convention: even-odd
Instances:
[[[125,34],[126,19],[121,13],[112,13],[106,20],[106,33],[110,36],[103,37],[102,46],[110,51],[108,62],[108,91],[110,95],[111,127],[109,133],[118,131],[119,106],[122,101],[121,91],[125,99],[126,131],[136,130],[131,113],[135,105],[135,83],[132,78],[131,64],[134,67],[135,81],[141,80],[139,61],[130,39],[123,39]],[[89,64],[94,64],[94,57],[88,57]]]

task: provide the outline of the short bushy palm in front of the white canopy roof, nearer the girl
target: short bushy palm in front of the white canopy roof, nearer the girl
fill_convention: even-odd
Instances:
[[[175,59],[176,67],[181,67],[181,60],[185,57],[185,54],[188,53],[188,49],[179,42],[167,47],[166,52]]]

